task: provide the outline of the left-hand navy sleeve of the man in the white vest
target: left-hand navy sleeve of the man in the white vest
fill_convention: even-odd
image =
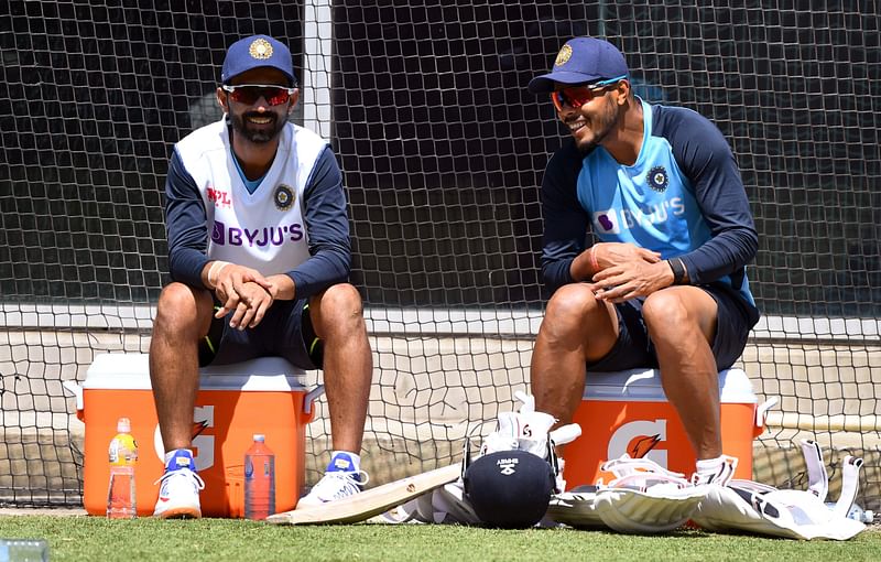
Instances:
[[[208,262],[208,218],[193,176],[177,150],[165,179],[165,229],[168,236],[168,272],[173,281],[206,289],[202,270]]]

